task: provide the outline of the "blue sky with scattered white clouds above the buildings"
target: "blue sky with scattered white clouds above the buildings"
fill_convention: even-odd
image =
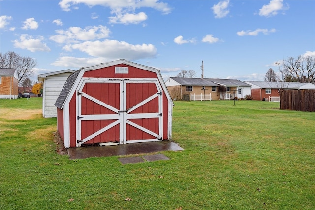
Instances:
[[[126,59],[205,78],[263,81],[276,62],[315,56],[314,0],[0,0],[1,53],[37,74]]]

